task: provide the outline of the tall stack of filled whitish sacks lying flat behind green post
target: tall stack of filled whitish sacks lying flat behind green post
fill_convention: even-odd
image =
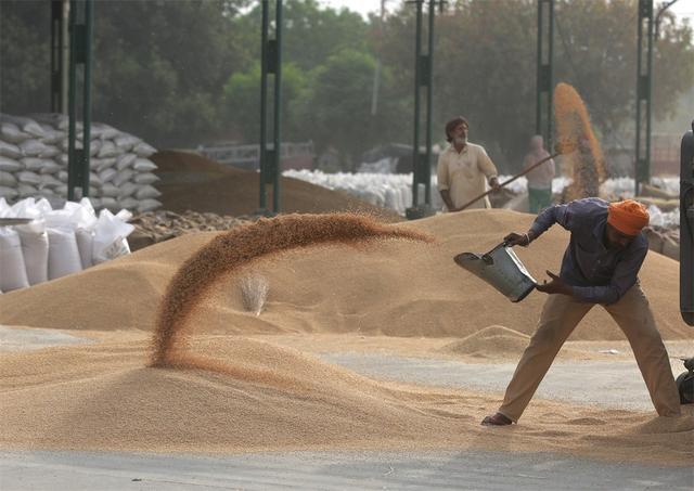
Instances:
[[[9,203],[44,197],[60,207],[67,199],[68,118],[0,114],[0,198]],[[76,124],[82,148],[82,125]],[[89,142],[91,203],[97,209],[151,211],[162,206],[159,180],[149,159],[156,150],[137,137],[94,122]]]

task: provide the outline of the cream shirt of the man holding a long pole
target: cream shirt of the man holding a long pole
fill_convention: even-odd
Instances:
[[[497,176],[497,167],[481,145],[467,143],[462,152],[449,145],[438,157],[438,190],[450,193],[455,208],[487,191],[487,182]],[[491,208],[485,196],[467,207]]]

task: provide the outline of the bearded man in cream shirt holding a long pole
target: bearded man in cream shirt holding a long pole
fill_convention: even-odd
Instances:
[[[437,175],[438,191],[448,211],[458,211],[487,191],[487,184],[499,189],[497,167],[481,145],[467,141],[468,129],[462,116],[446,124],[446,140],[450,145],[438,157]],[[491,208],[491,204],[485,196],[467,208]]]

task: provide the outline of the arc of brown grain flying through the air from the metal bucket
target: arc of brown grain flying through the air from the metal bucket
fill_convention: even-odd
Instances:
[[[283,250],[320,244],[357,245],[374,238],[433,241],[422,232],[387,227],[350,214],[260,219],[215,237],[181,266],[166,288],[153,337],[152,365],[210,367],[183,353],[183,330],[193,311],[226,273]]]

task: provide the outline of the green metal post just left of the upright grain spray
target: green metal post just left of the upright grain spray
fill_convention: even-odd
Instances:
[[[554,0],[538,0],[537,99],[535,132],[552,147],[554,87]]]

